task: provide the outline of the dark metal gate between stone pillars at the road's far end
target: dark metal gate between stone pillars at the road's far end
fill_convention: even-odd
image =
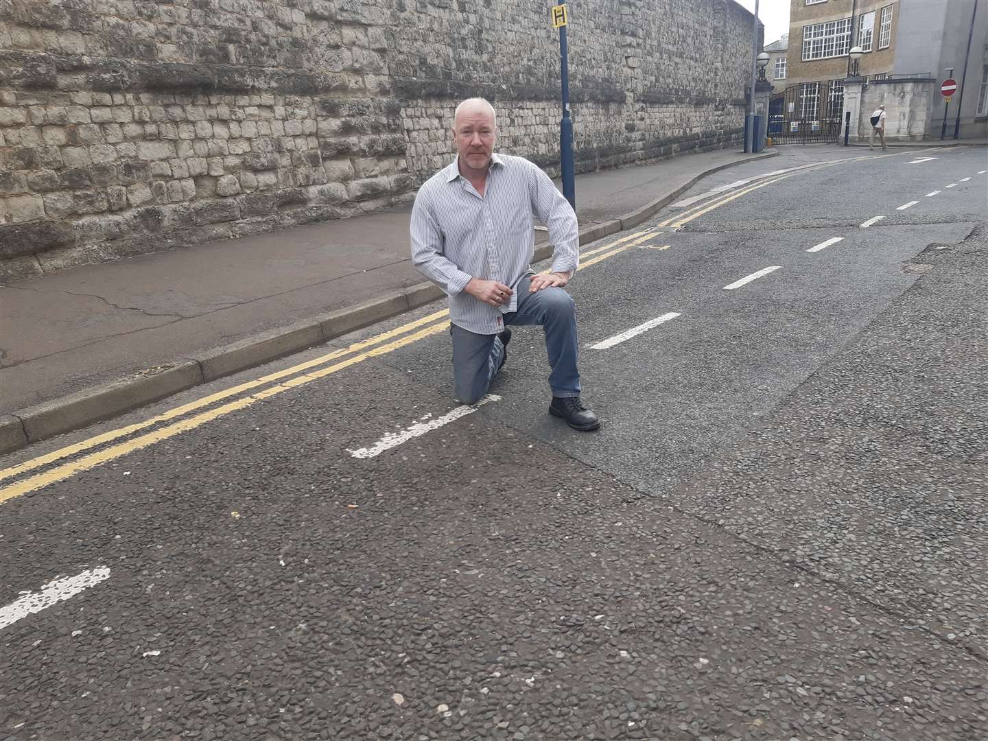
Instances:
[[[831,144],[840,139],[844,80],[800,82],[772,96],[769,136],[775,144]]]

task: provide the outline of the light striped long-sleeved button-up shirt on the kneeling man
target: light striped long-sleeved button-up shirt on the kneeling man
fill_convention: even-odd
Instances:
[[[529,160],[492,155],[483,196],[460,176],[455,160],[419,189],[412,208],[412,263],[450,296],[453,324],[484,335],[504,330],[503,315],[518,310],[519,282],[535,273],[533,213],[554,245],[552,271],[575,271],[576,214]],[[463,290],[471,278],[497,281],[515,293],[506,304],[491,306]]]

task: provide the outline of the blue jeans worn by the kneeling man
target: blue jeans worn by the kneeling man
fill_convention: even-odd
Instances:
[[[580,373],[576,370],[579,347],[576,339],[576,306],[562,288],[529,292],[529,278],[518,283],[518,311],[504,315],[505,326],[540,324],[545,333],[549,358],[549,388],[553,396],[579,396]],[[478,335],[450,327],[453,335],[453,378],[456,396],[464,404],[479,401],[504,358],[504,343],[497,335]]]

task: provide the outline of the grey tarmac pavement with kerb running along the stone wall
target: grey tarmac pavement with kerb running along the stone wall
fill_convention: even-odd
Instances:
[[[644,221],[735,149],[576,178],[580,242]],[[441,297],[410,206],[17,281],[3,288],[0,453],[261,365]],[[546,256],[536,233],[536,259]]]

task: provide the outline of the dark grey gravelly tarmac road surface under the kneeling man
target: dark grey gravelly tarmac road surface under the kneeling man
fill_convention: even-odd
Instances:
[[[701,182],[855,158],[579,274],[598,434],[521,328],[500,400],[354,457],[456,407],[444,332],[0,505],[0,610],[110,569],[0,627],[0,739],[984,741],[985,151]]]

